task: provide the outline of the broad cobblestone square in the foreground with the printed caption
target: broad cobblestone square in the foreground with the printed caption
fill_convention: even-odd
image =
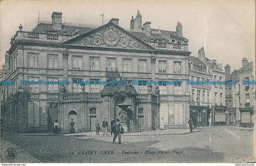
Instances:
[[[122,145],[103,136],[12,136],[41,162],[252,162],[254,130],[213,126],[177,135],[126,136]],[[116,140],[118,142],[118,139]],[[17,154],[18,156],[19,154]]]

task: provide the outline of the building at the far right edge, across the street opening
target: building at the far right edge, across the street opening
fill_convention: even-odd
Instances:
[[[225,69],[226,73],[229,74],[230,66],[227,65]],[[237,82],[235,86],[226,86],[230,121],[232,122],[235,118],[241,126],[254,126],[256,91],[254,63],[243,58],[242,67],[234,70],[229,75],[228,80],[236,80]]]

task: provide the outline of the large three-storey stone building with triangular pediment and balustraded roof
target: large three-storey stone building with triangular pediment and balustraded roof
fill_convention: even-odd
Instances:
[[[185,127],[190,117],[188,40],[182,25],[175,32],[141,24],[137,13],[130,29],[111,19],[103,26],[63,24],[62,13],[51,22],[39,22],[30,32],[20,26],[5,54],[1,85],[2,131],[51,131],[55,120],[68,132],[94,131],[96,120],[121,119],[133,131]],[[132,80],[182,81],[181,85],[132,85]],[[27,85],[26,82],[30,81]],[[35,84],[33,81],[45,81]],[[79,85],[77,81],[91,81]],[[125,85],[99,85],[96,81],[124,81]],[[52,84],[61,82],[61,85]],[[22,84],[23,83],[23,84]]]

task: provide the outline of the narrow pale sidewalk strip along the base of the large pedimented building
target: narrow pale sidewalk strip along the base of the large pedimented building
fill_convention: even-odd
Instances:
[[[193,133],[199,132],[201,130],[193,130]],[[2,134],[10,134],[10,135],[18,135],[18,136],[97,136],[96,132],[87,132],[87,133],[75,133],[75,134],[67,134],[60,133],[57,135],[51,133],[27,133],[27,134],[15,134],[15,133],[2,133]],[[108,133],[108,136],[111,136]],[[190,134],[189,129],[167,129],[167,130],[155,130],[155,131],[143,131],[143,132],[125,132],[123,136],[152,136],[152,135],[170,135],[170,134]],[[102,132],[100,132],[99,136],[102,136]]]

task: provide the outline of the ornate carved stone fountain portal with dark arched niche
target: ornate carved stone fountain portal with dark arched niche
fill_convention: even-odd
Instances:
[[[119,82],[117,85],[105,85],[100,92],[102,97],[110,99],[104,100],[105,106],[108,106],[108,120],[119,119],[125,131],[129,130],[130,126],[135,129],[137,91],[121,77],[117,69],[107,70],[107,81]]]

